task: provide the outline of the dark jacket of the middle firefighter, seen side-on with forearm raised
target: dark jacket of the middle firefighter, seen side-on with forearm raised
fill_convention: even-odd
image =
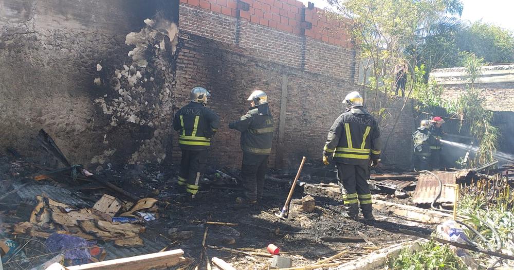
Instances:
[[[259,105],[259,107],[268,104]],[[264,110],[266,109],[266,110]],[[229,124],[230,129],[241,132],[241,149],[255,155],[269,155],[273,141],[273,117],[268,108],[250,108],[239,120]]]

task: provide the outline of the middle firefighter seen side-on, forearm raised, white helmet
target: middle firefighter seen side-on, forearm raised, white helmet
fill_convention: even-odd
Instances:
[[[229,124],[229,129],[241,132],[244,196],[236,203],[257,206],[264,189],[264,175],[268,170],[268,156],[273,140],[273,117],[269,110],[268,97],[261,90],[254,91],[247,99],[251,107],[246,115]]]

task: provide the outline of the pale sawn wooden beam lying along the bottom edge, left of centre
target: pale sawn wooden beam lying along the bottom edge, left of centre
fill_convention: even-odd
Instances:
[[[174,249],[158,253],[69,266],[69,270],[149,270],[167,268],[184,261],[184,251]]]

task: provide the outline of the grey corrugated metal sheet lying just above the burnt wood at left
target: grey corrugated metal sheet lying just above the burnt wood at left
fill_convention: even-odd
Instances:
[[[22,184],[19,183],[13,184],[14,188],[17,188],[21,185]],[[92,206],[91,203],[80,199],[80,197],[72,194],[71,191],[65,188],[54,187],[50,185],[38,185],[34,183],[16,191],[16,194],[21,197],[22,201],[35,201],[35,196],[45,195],[54,201],[67,204],[69,206]]]

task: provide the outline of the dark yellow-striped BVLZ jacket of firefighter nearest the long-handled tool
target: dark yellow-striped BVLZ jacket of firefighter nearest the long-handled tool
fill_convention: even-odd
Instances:
[[[375,118],[363,107],[353,107],[341,114],[330,130],[323,155],[332,153],[337,163],[367,165],[380,157],[380,131]]]

